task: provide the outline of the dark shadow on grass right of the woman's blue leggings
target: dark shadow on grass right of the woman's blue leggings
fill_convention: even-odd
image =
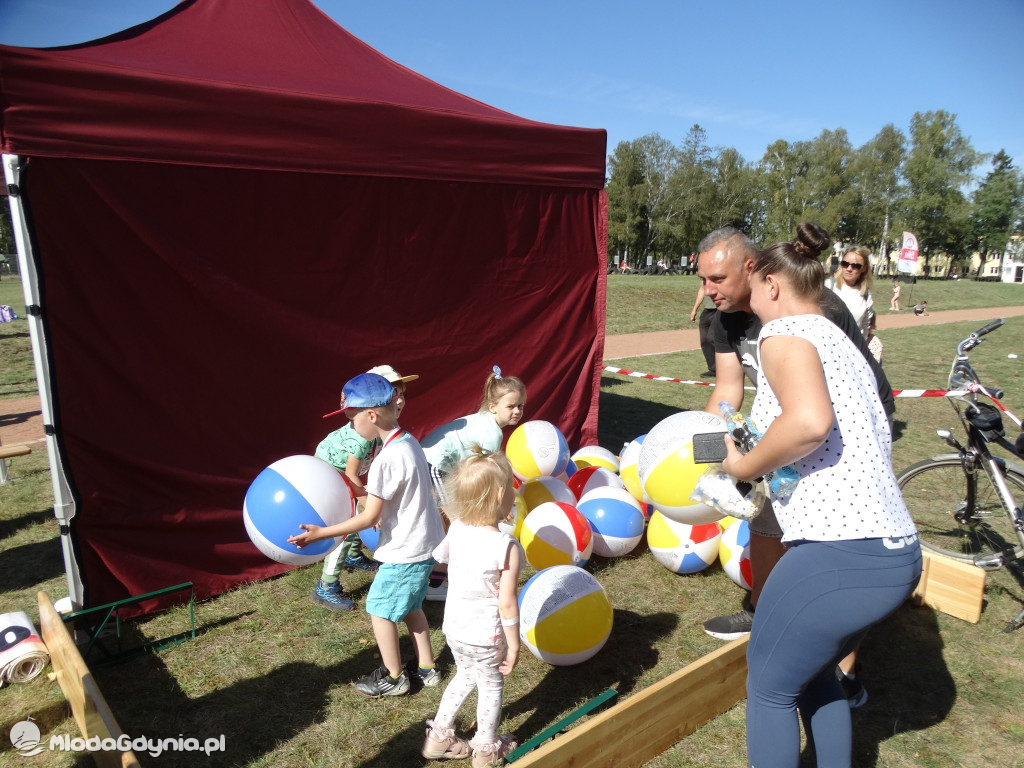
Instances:
[[[853,715],[853,766],[879,765],[879,745],[941,722],[956,700],[935,611],[906,605],[871,630],[858,655],[867,703]],[[813,764],[813,763],[812,763]]]

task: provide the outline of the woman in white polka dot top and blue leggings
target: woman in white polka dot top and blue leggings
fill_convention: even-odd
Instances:
[[[724,469],[752,480],[792,464],[772,499],[788,550],[765,584],[748,648],[751,765],[798,765],[798,712],[819,765],[849,765],[850,707],[838,662],[907,598],[921,575],[916,530],[892,471],[892,437],[863,355],[819,308],[830,245],[817,224],[761,251],[751,306],[764,323],[751,416],[764,437]]]

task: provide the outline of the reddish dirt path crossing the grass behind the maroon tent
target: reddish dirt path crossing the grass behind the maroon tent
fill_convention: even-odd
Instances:
[[[1018,315],[1024,315],[1024,306],[931,312],[927,317],[914,317],[911,311],[885,312],[879,314],[879,330],[885,331],[890,328],[938,323],[958,323],[961,321],[975,321],[981,324],[994,317],[1016,317]],[[682,331],[624,334],[605,338],[604,359],[615,360],[624,357],[667,354],[699,348],[700,338],[695,327]],[[38,396],[0,400],[0,445],[13,445],[19,442],[30,445],[42,444],[43,442],[43,417],[40,413]]]

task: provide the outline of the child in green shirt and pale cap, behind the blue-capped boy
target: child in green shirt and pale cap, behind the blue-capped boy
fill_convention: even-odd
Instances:
[[[395,388],[395,408],[398,416],[406,407],[406,382],[416,381],[419,376],[401,376],[390,366],[376,366],[370,369],[369,373],[379,374],[387,379]],[[325,419],[341,411],[335,411],[324,416]],[[346,423],[341,429],[336,429],[327,437],[321,440],[313,454],[317,459],[323,459],[331,464],[335,469],[344,472],[349,484],[357,498],[367,495],[362,481],[370,470],[370,463],[377,452],[380,451],[381,441],[365,440],[360,437],[350,423]],[[357,534],[349,534],[342,539],[341,544],[331,550],[324,560],[324,569],[321,573],[319,582],[313,589],[312,601],[316,605],[323,605],[331,610],[352,610],[355,603],[344,596],[338,575],[344,567],[346,570],[359,568],[360,570],[377,570],[380,563],[371,560],[362,554],[362,546]]]

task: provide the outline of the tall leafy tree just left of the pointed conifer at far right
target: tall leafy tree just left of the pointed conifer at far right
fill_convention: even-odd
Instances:
[[[910,119],[906,228],[918,236],[926,273],[936,254],[962,257],[970,247],[971,206],[963,189],[978,161],[955,115],[938,110]]]

